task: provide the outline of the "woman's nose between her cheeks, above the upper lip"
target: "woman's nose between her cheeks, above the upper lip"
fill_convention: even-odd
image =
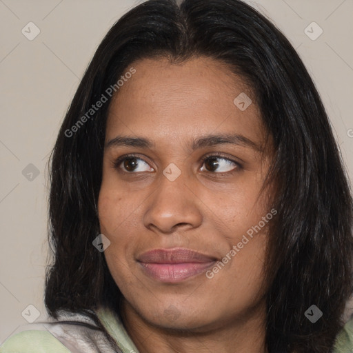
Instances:
[[[157,190],[148,198],[148,208],[143,216],[146,228],[168,234],[178,227],[187,230],[201,225],[201,200],[187,185],[187,177],[182,176],[183,173],[169,181],[161,175]]]

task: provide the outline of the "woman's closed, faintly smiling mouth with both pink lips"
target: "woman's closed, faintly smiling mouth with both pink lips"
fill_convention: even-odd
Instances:
[[[137,261],[144,274],[150,278],[165,283],[177,283],[207,271],[218,260],[194,250],[173,248],[145,252]]]

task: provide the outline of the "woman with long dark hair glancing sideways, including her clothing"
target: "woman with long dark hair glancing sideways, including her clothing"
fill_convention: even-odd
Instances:
[[[125,14],[51,168],[54,320],[1,352],[353,350],[347,177],[303,63],[250,6]]]

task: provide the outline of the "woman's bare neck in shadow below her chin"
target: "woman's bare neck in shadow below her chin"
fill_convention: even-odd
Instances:
[[[139,353],[266,353],[265,310],[208,328],[174,330],[143,319],[124,301],[121,319]]]

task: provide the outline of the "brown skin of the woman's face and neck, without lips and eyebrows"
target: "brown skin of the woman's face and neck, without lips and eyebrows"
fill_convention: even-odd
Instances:
[[[269,193],[259,192],[272,154],[260,152],[265,129],[259,109],[254,99],[245,111],[233,103],[252,92],[210,58],[182,64],[143,59],[132,66],[137,72],[110,104],[99,194],[101,232],[111,242],[104,254],[124,296],[126,330],[141,353],[265,352],[266,227],[212,279],[201,273],[162,283],[137,262],[143,252],[176,247],[221,260],[268,214]],[[259,149],[242,143],[190,148],[193,139],[230,133]],[[108,146],[118,135],[154,145]],[[214,168],[201,161],[216,152],[222,157]],[[131,159],[114,165],[130,153],[142,159],[138,166]],[[163,174],[170,163],[181,171],[174,181]]]

